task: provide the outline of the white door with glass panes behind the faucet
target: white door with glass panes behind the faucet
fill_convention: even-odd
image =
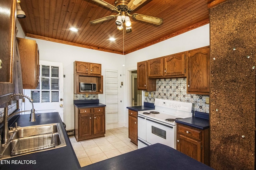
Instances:
[[[62,63],[39,61],[40,82],[37,89],[25,89],[24,94],[34,100],[36,113],[59,112],[63,115],[63,66]],[[24,110],[30,110],[31,104],[25,100]]]

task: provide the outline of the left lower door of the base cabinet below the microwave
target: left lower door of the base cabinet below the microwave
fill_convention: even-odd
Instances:
[[[79,138],[92,135],[92,114],[79,115]]]

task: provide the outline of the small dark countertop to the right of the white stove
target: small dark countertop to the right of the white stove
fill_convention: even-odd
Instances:
[[[201,113],[201,112],[195,111],[193,117],[178,119],[176,120],[176,123],[180,123],[182,125],[188,125],[190,127],[195,127],[195,128],[204,130],[210,127],[209,119],[207,119],[208,117],[209,117],[208,113]]]

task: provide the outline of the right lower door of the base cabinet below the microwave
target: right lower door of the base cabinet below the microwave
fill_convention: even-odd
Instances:
[[[94,113],[94,135],[105,133],[105,113]]]

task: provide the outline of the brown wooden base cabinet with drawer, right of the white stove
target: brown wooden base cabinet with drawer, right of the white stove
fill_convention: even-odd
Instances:
[[[200,130],[177,123],[176,149],[209,165],[209,129]]]

